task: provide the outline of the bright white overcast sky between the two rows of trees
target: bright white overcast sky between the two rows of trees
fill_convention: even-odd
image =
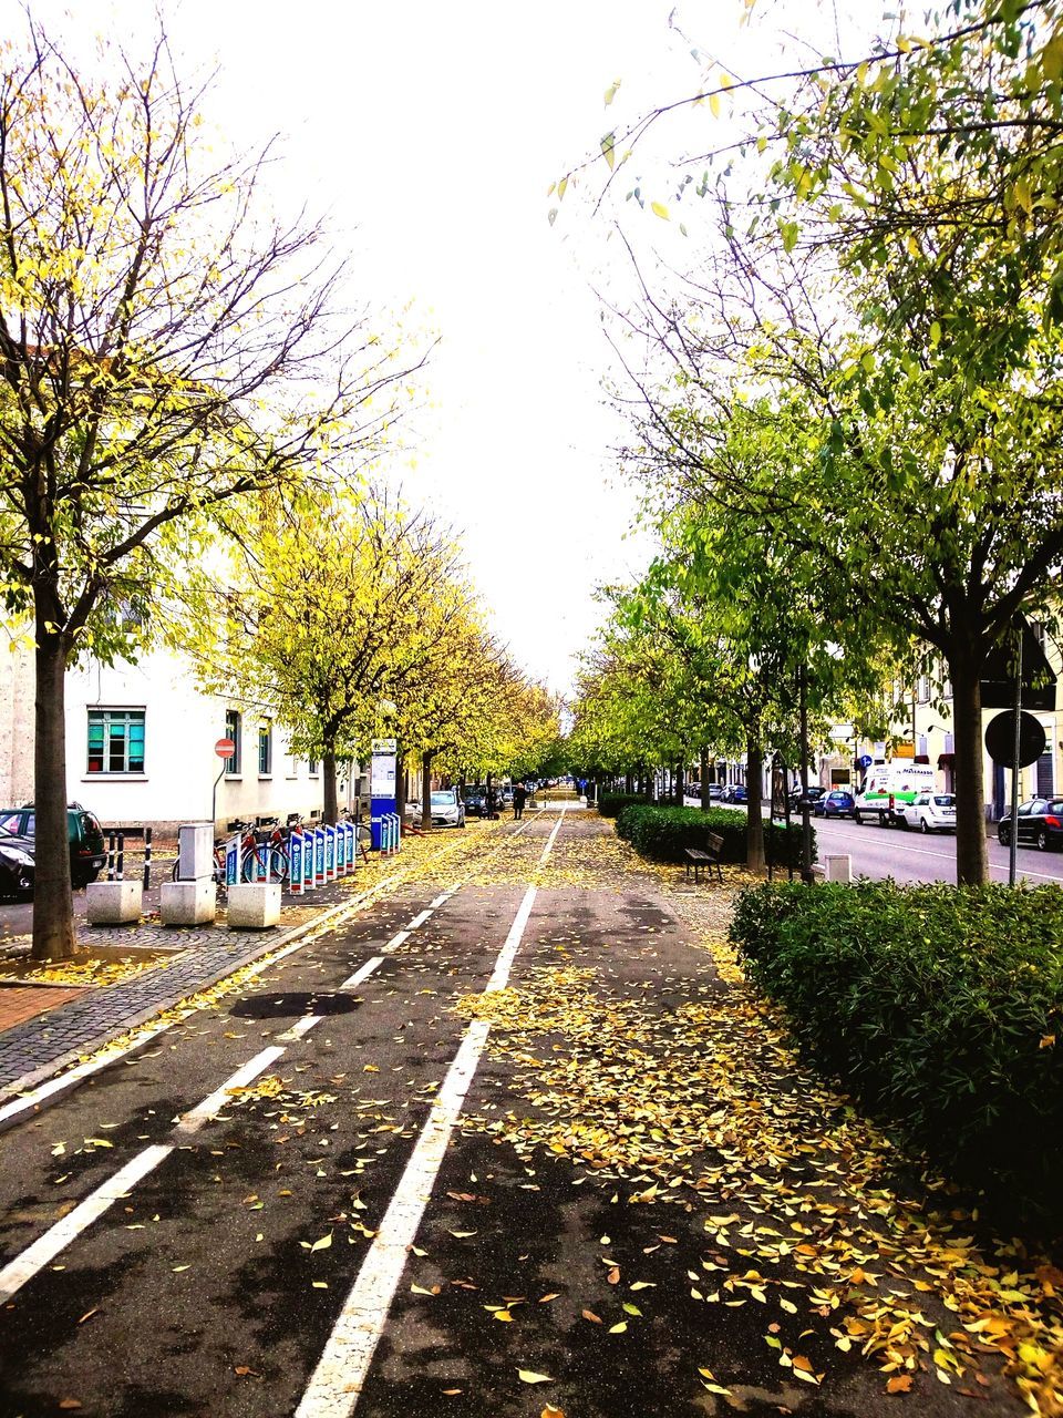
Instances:
[[[689,38],[669,27],[673,10]],[[14,0],[0,0],[4,11],[14,17]],[[51,20],[62,7],[38,0],[33,11]],[[634,203],[592,217],[601,160],[553,227],[547,187],[614,122],[696,91],[690,43],[730,72],[770,69],[781,50],[804,64],[821,51],[781,40],[780,21],[833,48],[832,6],[757,0],[744,31],[743,0],[162,0],[162,11],[190,67],[218,67],[208,116],[232,142],[282,135],[276,200],[330,214],[354,294],[408,306],[415,336],[441,336],[405,435],[415,467],[404,455],[395,476],[463,532],[514,658],[567,689],[601,617],[592,587],[646,557],[625,540],[634,498],[611,452],[625,430],[601,390],[609,350],[591,282],[629,282],[621,244],[607,240],[617,211],[636,242],[670,244],[683,261],[690,245],[680,255],[673,224]],[[69,24],[128,35],[149,18],[143,0],[94,0]],[[726,118],[700,109],[662,126],[632,170],[652,166],[655,149],[677,152],[683,133],[710,146],[724,132]],[[629,187],[619,182],[617,197]]]

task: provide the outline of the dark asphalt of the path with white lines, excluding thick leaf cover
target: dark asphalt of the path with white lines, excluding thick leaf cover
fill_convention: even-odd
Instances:
[[[719,1225],[738,1218],[717,1217],[712,1242],[704,1207],[741,1202],[632,1205],[615,1171],[493,1132],[524,1106],[514,1073],[563,1044],[485,1051],[459,1000],[558,970],[595,1008],[669,1027],[723,988],[651,875],[594,881],[602,834],[507,824],[497,871],[401,889],[0,1136],[0,1415],[893,1412],[855,1350],[798,1337],[797,1306],[771,1332],[829,1360],[829,1391],[778,1367],[763,1303],[690,1297],[685,1271],[704,1286],[731,1265]],[[551,849],[563,868],[530,888]],[[643,1048],[639,1068],[699,1065],[689,1048]],[[611,1076],[594,1051],[571,1066]],[[639,1126],[619,1078],[615,1109],[621,1132]],[[1025,1411],[995,1383],[978,1397],[981,1414]],[[927,1377],[917,1411],[965,1404]]]

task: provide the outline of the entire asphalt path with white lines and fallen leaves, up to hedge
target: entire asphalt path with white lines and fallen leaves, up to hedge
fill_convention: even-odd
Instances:
[[[1033,1261],[799,1068],[679,876],[506,824],[23,1116],[0,1418],[1028,1414]]]

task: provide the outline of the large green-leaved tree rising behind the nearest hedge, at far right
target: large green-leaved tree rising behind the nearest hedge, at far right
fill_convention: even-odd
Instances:
[[[853,608],[943,658],[957,876],[981,882],[982,666],[1016,615],[1054,617],[1063,563],[1063,34],[1054,3],[947,13],[926,43],[785,77],[747,164],[702,183],[721,254],[685,311],[645,292],[676,379],[663,397],[643,383],[642,431],[696,468],[699,417],[750,390],[804,403],[777,506],[815,512]],[[814,526],[785,532],[802,547]]]

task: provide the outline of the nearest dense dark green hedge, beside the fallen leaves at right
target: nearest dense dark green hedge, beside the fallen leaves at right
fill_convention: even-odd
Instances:
[[[1059,1205],[1063,891],[765,885],[731,939],[819,1068],[954,1176]]]

